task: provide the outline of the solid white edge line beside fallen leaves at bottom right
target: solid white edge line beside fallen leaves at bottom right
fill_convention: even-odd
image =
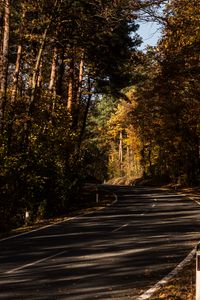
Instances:
[[[165,276],[163,279],[157,282],[152,288],[150,288],[149,290],[144,292],[141,296],[139,296],[137,300],[147,300],[151,296],[153,296],[153,294],[155,294],[160,288],[162,288],[162,286],[167,284],[170,279],[176,276],[185,267],[185,265],[187,265],[193,259],[195,253],[196,253],[196,247],[188,254],[188,256],[182,262],[180,262],[180,264],[176,266],[174,270],[172,270],[167,276]]]

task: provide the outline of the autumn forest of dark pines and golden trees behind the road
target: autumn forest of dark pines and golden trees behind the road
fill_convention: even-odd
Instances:
[[[199,184],[199,20],[199,0],[0,0],[0,232],[86,182]]]

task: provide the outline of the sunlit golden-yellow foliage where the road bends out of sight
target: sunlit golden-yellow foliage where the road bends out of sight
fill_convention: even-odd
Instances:
[[[99,126],[100,135],[108,145],[108,172],[110,177],[138,177],[142,174],[139,134],[132,124],[132,114],[136,107],[136,89],[126,91],[129,102],[121,100],[104,126]],[[105,107],[104,107],[105,111]]]

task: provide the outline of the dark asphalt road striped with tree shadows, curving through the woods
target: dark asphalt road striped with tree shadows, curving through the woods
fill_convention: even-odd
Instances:
[[[200,206],[158,188],[107,187],[104,210],[0,241],[0,299],[137,299],[200,239]]]

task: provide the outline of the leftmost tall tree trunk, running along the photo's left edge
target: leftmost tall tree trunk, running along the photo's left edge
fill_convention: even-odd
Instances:
[[[0,128],[2,127],[4,108],[6,104],[9,38],[10,38],[10,1],[5,0],[3,46],[2,46],[2,58],[1,58],[2,66],[1,66],[1,74],[0,74]]]

